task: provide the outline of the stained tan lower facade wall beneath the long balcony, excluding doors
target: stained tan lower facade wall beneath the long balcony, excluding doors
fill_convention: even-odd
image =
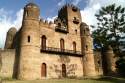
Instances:
[[[82,57],[73,57],[58,54],[40,53],[39,55],[38,79],[41,77],[42,63],[46,64],[47,77],[46,78],[62,78],[62,64],[66,65],[67,77],[82,77],[83,76],[83,62]]]

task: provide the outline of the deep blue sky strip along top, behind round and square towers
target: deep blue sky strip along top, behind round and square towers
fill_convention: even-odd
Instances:
[[[40,7],[41,17],[44,19],[57,15],[58,9],[65,3],[73,3],[80,9],[86,6],[86,0],[1,0],[0,8],[4,8],[6,11],[12,11],[12,17],[14,19],[14,13],[19,11],[29,2],[34,2]]]

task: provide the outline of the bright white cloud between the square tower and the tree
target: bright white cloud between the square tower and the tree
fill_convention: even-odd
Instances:
[[[95,14],[102,6],[107,6],[115,3],[116,5],[122,5],[125,7],[125,0],[88,0],[87,6],[84,10],[81,10],[82,21],[88,25],[94,25],[97,23]]]

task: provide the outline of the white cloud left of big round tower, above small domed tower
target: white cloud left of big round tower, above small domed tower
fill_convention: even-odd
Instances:
[[[20,9],[15,15],[16,19],[13,20],[11,14],[13,11],[7,11],[4,8],[0,9],[0,48],[4,47],[6,33],[11,27],[17,30],[21,27],[23,9]]]

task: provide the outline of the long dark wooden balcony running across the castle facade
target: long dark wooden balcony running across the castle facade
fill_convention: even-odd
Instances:
[[[50,54],[76,56],[76,57],[83,56],[81,51],[74,51],[74,50],[67,50],[67,49],[60,49],[60,48],[53,48],[53,47],[41,48],[41,52],[50,53]]]

